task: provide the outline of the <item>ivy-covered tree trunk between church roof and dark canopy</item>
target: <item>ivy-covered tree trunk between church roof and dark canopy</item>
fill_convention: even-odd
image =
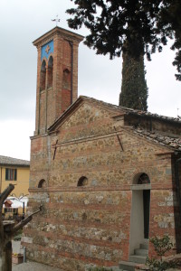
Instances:
[[[145,79],[143,55],[138,60],[127,53],[123,55],[122,86],[119,105],[133,109],[147,111],[148,87]]]

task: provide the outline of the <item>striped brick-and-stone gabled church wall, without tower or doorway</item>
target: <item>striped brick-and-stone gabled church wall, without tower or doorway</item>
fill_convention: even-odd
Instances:
[[[29,258],[70,271],[128,260],[131,186],[138,173],[151,182],[150,237],[167,232],[176,242],[171,154],[133,135],[113,115],[84,102],[58,133],[32,138],[29,211],[43,203],[43,213],[24,229]],[[81,176],[88,182],[78,187]],[[38,189],[42,179],[46,187]]]

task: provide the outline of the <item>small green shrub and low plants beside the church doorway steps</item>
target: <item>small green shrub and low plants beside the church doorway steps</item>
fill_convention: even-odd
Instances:
[[[151,243],[154,245],[157,256],[147,258],[147,265],[149,266],[150,271],[165,271],[169,268],[176,268],[180,266],[180,262],[175,260],[163,261],[162,257],[173,248],[173,243],[170,241],[170,238],[167,235],[164,235],[163,238],[150,238]]]

